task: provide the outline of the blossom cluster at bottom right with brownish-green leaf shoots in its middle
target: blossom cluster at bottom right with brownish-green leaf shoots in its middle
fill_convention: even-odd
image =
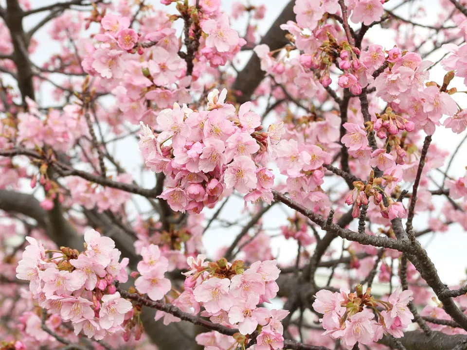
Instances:
[[[371,344],[381,339],[384,333],[396,338],[402,337],[403,330],[412,322],[413,315],[407,304],[413,300],[412,291],[401,291],[398,287],[387,301],[375,299],[371,289],[363,293],[359,284],[355,293],[321,290],[316,293],[313,309],[323,314],[320,322],[334,339],[341,339],[347,349],[355,343]],[[377,307],[383,307],[379,311]],[[375,320],[375,313],[377,320]]]

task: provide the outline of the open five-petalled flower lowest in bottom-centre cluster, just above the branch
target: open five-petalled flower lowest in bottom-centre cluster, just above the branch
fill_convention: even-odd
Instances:
[[[238,331],[241,334],[251,334],[259,325],[266,325],[267,318],[270,317],[269,310],[266,308],[256,308],[256,301],[247,299],[236,299],[236,303],[229,310],[229,322],[238,323]]]

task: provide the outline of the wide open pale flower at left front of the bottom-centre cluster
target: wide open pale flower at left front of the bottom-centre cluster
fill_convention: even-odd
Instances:
[[[220,310],[228,311],[233,305],[233,297],[229,292],[229,279],[216,277],[205,280],[193,290],[195,300],[203,303],[207,312],[215,314]]]

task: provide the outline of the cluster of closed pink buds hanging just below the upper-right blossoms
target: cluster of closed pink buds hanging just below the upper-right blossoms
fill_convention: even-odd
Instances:
[[[413,131],[415,124],[394,113],[391,107],[387,107],[383,114],[376,113],[375,122],[366,122],[369,130],[376,131],[380,139],[386,139],[389,135],[397,135],[399,131]]]

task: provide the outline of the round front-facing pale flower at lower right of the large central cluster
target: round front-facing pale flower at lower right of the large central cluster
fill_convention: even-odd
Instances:
[[[226,188],[234,188],[240,193],[256,187],[256,166],[250,157],[239,156],[227,166],[224,174]]]

